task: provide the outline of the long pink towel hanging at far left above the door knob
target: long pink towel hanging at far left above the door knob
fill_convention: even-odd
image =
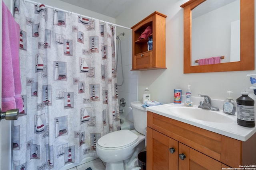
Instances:
[[[20,81],[20,26],[2,1],[2,111],[22,111]]]

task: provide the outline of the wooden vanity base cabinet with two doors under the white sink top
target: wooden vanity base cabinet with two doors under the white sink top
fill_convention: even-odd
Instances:
[[[147,170],[256,165],[256,134],[244,142],[150,111],[147,117]]]

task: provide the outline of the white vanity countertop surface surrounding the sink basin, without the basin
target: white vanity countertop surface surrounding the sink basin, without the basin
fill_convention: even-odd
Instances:
[[[180,105],[180,104],[164,104],[159,106],[146,107],[146,110],[157,113],[159,115],[175,119],[208,131],[212,131],[227,137],[231,137],[240,141],[248,140],[254,133],[256,133],[256,127],[243,127],[236,123],[236,115],[228,115],[223,113],[223,110],[218,111],[219,114],[224,114],[224,116],[232,119],[229,123],[216,123],[211,121],[202,121],[199,119],[187,118],[180,116],[178,114],[172,113],[167,106],[170,105]],[[182,105],[180,105],[182,106]],[[186,107],[186,106],[183,106]],[[193,106],[198,107],[198,106]]]

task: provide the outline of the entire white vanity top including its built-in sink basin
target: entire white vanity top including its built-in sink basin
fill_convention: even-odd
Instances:
[[[238,125],[236,115],[225,114],[221,109],[220,111],[211,111],[200,109],[195,105],[186,107],[183,104],[163,104],[146,107],[146,110],[240,141],[246,141],[256,133],[256,127]]]

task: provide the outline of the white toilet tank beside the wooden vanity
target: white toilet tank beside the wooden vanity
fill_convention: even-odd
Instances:
[[[131,102],[131,107],[132,107],[134,128],[137,132],[145,135],[146,134],[145,128],[147,127],[147,111],[142,106],[142,102],[140,101]]]

